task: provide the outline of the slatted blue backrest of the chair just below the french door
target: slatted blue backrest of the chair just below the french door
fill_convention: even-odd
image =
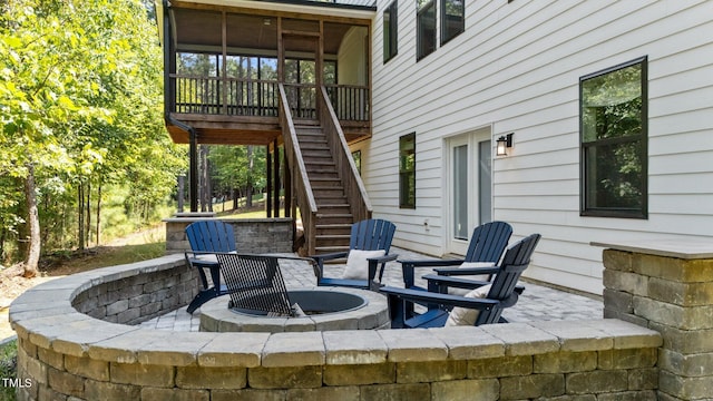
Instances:
[[[472,231],[470,244],[466,253],[466,262],[498,263],[508,246],[512,227],[505,222],[490,222],[479,225]]]

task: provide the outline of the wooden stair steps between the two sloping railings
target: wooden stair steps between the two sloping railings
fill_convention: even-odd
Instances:
[[[295,121],[294,128],[318,206],[315,253],[348,251],[354,216],[324,130],[318,121]]]

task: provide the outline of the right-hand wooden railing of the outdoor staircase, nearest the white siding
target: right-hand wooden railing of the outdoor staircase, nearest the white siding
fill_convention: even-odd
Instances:
[[[340,178],[342,179],[344,190],[350,195],[350,198],[353,199],[356,197],[356,204],[350,203],[352,214],[355,221],[371,218],[372,207],[371,202],[369,200],[369,195],[367,194],[367,188],[364,187],[364,183],[359,175],[354,159],[349,150],[344,131],[342,130],[339,118],[334,113],[334,108],[332,107],[332,102],[330,101],[330,97],[324,85],[320,86],[320,94],[321,96],[318,96],[320,124],[323,129],[331,128],[330,131],[333,131],[333,135],[326,135],[326,140],[333,150],[332,155],[334,156],[334,162],[338,165]],[[344,163],[346,166],[344,166]]]

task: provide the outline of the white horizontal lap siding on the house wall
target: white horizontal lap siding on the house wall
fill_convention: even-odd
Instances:
[[[398,246],[445,252],[445,138],[515,133],[494,163],[494,218],[543,234],[527,275],[602,291],[593,241],[713,241],[713,1],[466,0],[466,31],[416,61],[416,0],[399,0],[398,55],[373,23],[373,138],[362,175]],[[440,12],[440,1],[437,8]],[[440,38],[440,36],[439,36]],[[437,40],[440,42],[440,39]],[[579,77],[648,57],[648,218],[579,216]],[[399,208],[399,137],[416,131],[417,208]],[[428,227],[424,221],[428,219]]]

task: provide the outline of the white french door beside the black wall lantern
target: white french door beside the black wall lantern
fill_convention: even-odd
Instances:
[[[490,128],[448,139],[447,252],[465,254],[472,229],[492,219]]]

